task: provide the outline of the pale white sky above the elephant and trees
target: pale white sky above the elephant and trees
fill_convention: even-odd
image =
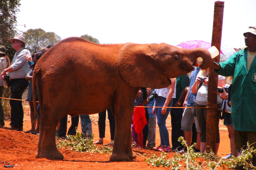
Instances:
[[[100,43],[211,42],[216,0],[21,0],[18,30],[41,28],[62,39],[88,34]],[[256,0],[225,0],[221,49],[244,45],[256,26]]]

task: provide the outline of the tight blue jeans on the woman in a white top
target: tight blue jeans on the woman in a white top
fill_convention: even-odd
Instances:
[[[155,101],[156,101],[155,107],[163,107],[165,100],[166,100],[166,98],[164,98],[162,96],[156,97],[155,98]],[[172,106],[172,100],[170,101],[168,107],[171,107],[171,106]],[[166,119],[169,115],[170,110],[171,110],[171,108],[167,108],[166,114],[162,115],[162,113],[161,113],[162,108],[155,108],[156,117],[157,117],[157,125],[159,127],[159,133],[160,133],[161,145],[164,145],[164,146],[170,146],[169,132],[165,126]]]

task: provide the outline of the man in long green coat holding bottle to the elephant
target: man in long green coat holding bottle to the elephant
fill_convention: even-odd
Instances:
[[[256,26],[249,27],[244,37],[247,48],[235,52],[227,61],[212,63],[217,74],[234,77],[231,117],[237,151],[246,148],[247,142],[256,148]]]

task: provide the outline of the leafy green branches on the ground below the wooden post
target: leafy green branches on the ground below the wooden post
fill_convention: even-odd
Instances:
[[[186,145],[186,141],[183,137],[180,137],[179,141],[183,145]],[[244,169],[249,168],[256,170],[256,167],[254,167],[250,163],[252,155],[256,154],[256,150],[254,150],[253,147],[249,145],[249,143],[248,147],[245,150],[241,151],[239,157],[234,158],[234,156],[232,156],[231,159],[223,159],[212,151],[210,153],[195,153],[193,150],[194,146],[195,143],[189,147],[186,145],[187,153],[184,153],[181,156],[178,156],[178,154],[176,153],[174,158],[167,159],[166,153],[162,152],[160,157],[153,155],[151,158],[145,159],[145,161],[148,165],[151,164],[156,167],[171,167],[171,169],[175,170],[182,169],[182,161],[184,161],[185,163],[186,170],[203,170],[205,168],[216,170],[218,167],[220,167],[221,169],[226,169],[226,167],[232,167],[233,165],[243,166]],[[199,157],[202,157],[203,159],[205,159],[205,161],[198,161]]]

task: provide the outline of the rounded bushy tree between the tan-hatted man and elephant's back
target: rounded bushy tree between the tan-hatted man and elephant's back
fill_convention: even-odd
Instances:
[[[49,44],[56,44],[61,41],[61,37],[54,32],[45,32],[43,29],[29,29],[22,36],[26,40],[26,48],[30,50],[31,53],[38,51],[41,47],[45,47]]]

